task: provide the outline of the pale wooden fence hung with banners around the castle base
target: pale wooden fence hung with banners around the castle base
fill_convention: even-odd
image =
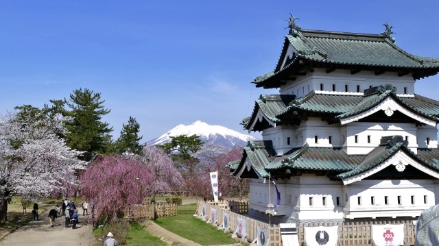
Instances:
[[[268,223],[263,223],[254,219],[245,217],[244,210],[248,210],[248,206],[237,206],[237,208],[243,208],[243,210],[232,211],[228,204],[233,204],[230,201],[214,202],[198,202],[198,215],[202,210],[202,206],[206,206],[206,220],[211,219],[211,208],[217,210],[217,221],[214,225],[222,225],[222,214],[228,213],[230,217],[230,232],[235,232],[237,226],[237,219],[245,219],[247,227],[247,241],[252,242],[257,238],[257,226],[262,228],[268,228]],[[372,225],[385,225],[385,224],[403,224],[404,225],[404,237],[407,245],[414,245],[414,223],[410,219],[371,219],[364,221],[344,221],[343,223],[300,223],[298,224],[298,240],[299,245],[305,245],[305,226],[334,226],[338,225],[338,238],[340,245],[371,245],[372,244]],[[281,230],[277,226],[270,227],[270,246],[281,246]]]

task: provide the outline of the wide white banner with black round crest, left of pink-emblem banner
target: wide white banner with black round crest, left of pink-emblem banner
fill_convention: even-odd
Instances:
[[[338,226],[305,226],[305,243],[309,246],[337,246]]]

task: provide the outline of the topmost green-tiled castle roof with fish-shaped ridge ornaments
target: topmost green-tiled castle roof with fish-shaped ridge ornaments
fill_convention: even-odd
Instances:
[[[292,54],[287,53],[290,49]],[[285,36],[274,71],[255,78],[253,83],[257,87],[276,88],[281,86],[281,79],[305,67],[413,73],[418,79],[438,73],[439,60],[407,53],[388,36],[379,34],[297,29]]]

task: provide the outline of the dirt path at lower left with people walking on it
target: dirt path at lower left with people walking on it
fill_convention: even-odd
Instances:
[[[79,220],[84,221],[82,217],[82,208],[78,208],[80,214]],[[40,214],[39,221],[31,221],[19,230],[5,236],[0,245],[8,246],[59,246],[59,245],[91,245],[93,234],[91,225],[78,224],[75,230],[64,227],[64,217],[55,219],[55,226],[50,227],[49,211]]]

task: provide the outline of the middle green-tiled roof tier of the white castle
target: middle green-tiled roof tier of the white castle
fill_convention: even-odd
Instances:
[[[393,105],[399,105],[400,110],[428,119],[430,123],[439,122],[439,101],[419,95],[397,96],[390,84],[370,88],[364,93],[331,93],[313,90],[299,99],[294,99],[292,95],[263,95],[263,97],[270,100],[257,101],[252,116],[241,123],[244,129],[263,130],[270,127],[269,123],[263,124],[258,121],[261,115],[267,121],[279,125],[298,124],[300,115],[320,115],[331,122],[341,121],[371,110],[387,99],[394,101]]]

